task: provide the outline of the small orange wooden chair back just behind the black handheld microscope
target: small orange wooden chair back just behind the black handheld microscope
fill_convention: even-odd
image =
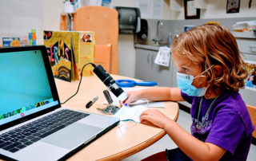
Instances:
[[[111,45],[95,45],[95,65],[102,65],[110,73]]]

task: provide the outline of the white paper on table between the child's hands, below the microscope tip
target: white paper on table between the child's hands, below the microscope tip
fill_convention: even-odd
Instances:
[[[122,121],[133,120],[136,123],[140,123],[139,116],[141,116],[142,112],[144,112],[146,109],[147,108],[145,105],[136,105],[133,107],[122,106],[114,117],[117,117]]]

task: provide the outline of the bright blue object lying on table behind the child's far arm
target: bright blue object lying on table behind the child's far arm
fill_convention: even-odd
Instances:
[[[132,80],[117,80],[115,81],[119,87],[134,87],[135,85],[140,86],[154,86],[158,85],[158,82],[154,81],[132,81]]]

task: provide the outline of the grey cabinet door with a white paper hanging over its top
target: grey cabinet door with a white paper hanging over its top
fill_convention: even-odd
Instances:
[[[169,66],[162,66],[154,64],[154,60],[157,57],[158,52],[151,51],[151,61],[152,61],[152,69],[151,69],[151,80],[158,82],[159,87],[171,87],[171,57]]]

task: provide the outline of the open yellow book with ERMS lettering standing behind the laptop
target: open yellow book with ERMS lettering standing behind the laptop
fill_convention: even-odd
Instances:
[[[54,77],[64,81],[74,81],[74,77],[79,80],[83,65],[89,62],[94,63],[94,32],[43,32],[44,45],[47,48]],[[93,76],[93,69],[92,65],[87,65],[82,76]],[[78,70],[79,77],[76,77],[74,70]]]

